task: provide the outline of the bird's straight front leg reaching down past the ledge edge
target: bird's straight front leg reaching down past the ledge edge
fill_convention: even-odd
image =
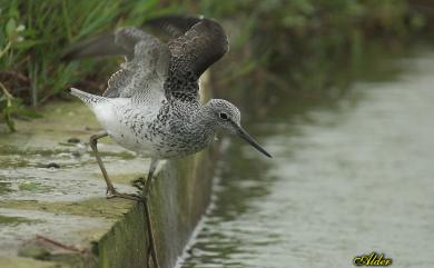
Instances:
[[[149,167],[149,172],[148,172],[148,178],[145,182],[145,187],[142,190],[142,198],[145,201],[145,217],[146,217],[146,226],[148,230],[148,239],[149,239],[149,250],[148,254],[150,252],[150,256],[152,257],[154,266],[156,268],[159,268],[159,262],[157,258],[157,249],[156,249],[156,244],[155,244],[155,237],[154,237],[154,231],[152,231],[152,221],[150,218],[150,209],[149,209],[149,202],[148,202],[148,196],[149,196],[149,189],[150,189],[150,182],[154,177],[154,172],[157,169],[158,166],[158,159],[151,158],[150,159],[150,167]],[[149,258],[148,258],[149,259]]]

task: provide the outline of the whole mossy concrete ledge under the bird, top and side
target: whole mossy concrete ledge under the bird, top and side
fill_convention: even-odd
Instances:
[[[18,121],[16,133],[0,127],[0,267],[146,267],[144,207],[105,198],[87,145],[95,117],[79,102],[49,105],[42,113]],[[130,181],[146,175],[149,159],[109,140],[99,148],[116,187],[137,191]],[[150,201],[161,267],[176,264],[209,204],[216,152],[160,165]]]

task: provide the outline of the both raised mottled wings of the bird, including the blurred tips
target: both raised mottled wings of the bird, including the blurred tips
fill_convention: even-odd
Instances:
[[[151,19],[145,26],[171,39],[164,44],[139,29],[126,28],[79,42],[62,59],[125,54],[127,62],[110,78],[106,97],[146,97],[150,89],[162,88],[159,83],[165,80],[166,98],[198,99],[199,77],[228,51],[221,26],[210,19],[180,16]]]

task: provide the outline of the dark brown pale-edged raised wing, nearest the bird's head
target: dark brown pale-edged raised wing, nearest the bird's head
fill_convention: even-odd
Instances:
[[[170,64],[165,83],[167,98],[198,99],[198,79],[228,51],[228,40],[219,23],[199,19],[184,34],[168,42]]]

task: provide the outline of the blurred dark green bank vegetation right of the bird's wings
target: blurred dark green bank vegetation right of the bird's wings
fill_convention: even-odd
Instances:
[[[240,27],[233,34],[231,60],[220,71],[221,88],[240,81],[249,89],[266,83],[279,90],[324,91],[336,86],[339,70],[357,68],[372,40],[392,49],[425,26],[425,17],[405,0],[207,2],[209,13]]]

